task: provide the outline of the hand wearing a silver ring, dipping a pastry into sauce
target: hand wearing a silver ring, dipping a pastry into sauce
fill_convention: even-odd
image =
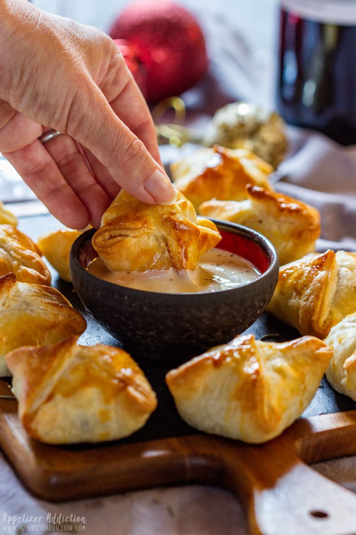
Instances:
[[[151,114],[115,43],[96,28],[0,0],[0,151],[64,225],[100,225],[124,187],[170,203]],[[42,144],[54,128],[62,133]]]

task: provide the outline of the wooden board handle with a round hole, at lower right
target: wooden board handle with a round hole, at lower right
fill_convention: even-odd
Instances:
[[[328,433],[333,441],[334,430]],[[355,535],[356,495],[300,461],[294,445],[286,434],[262,446],[218,446],[223,485],[246,506],[251,534]]]

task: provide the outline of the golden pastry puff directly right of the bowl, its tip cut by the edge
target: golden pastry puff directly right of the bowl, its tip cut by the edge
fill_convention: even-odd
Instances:
[[[356,253],[329,249],[283,265],[266,310],[302,335],[326,338],[356,311]]]

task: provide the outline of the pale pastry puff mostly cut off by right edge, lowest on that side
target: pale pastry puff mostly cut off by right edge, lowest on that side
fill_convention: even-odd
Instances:
[[[356,401],[356,312],[331,328],[324,341],[334,350],[326,370],[330,385]]]

